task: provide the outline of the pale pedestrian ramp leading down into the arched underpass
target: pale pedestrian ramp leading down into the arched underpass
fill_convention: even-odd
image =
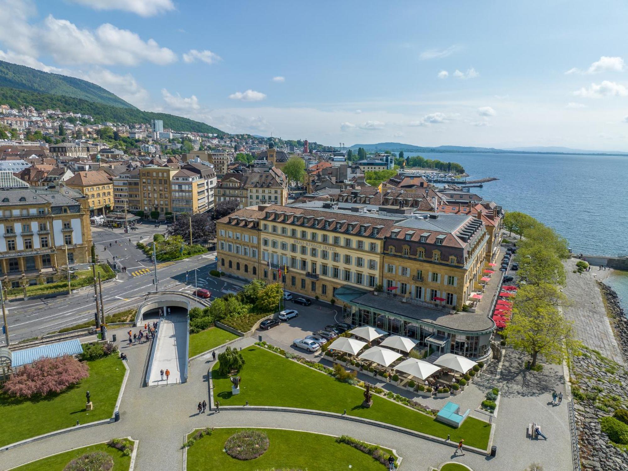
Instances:
[[[187,316],[168,316],[161,318],[159,324],[147,386],[180,384],[186,381],[187,374]],[[161,370],[170,371],[170,376],[166,379],[164,374],[162,379]]]

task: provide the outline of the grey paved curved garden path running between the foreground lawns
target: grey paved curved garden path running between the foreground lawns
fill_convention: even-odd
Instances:
[[[125,338],[124,330],[117,333],[118,338]],[[242,338],[236,342],[236,346],[246,347],[252,342],[251,338]],[[189,380],[184,384],[142,387],[149,345],[121,346],[122,352],[129,358],[130,373],[122,396],[119,422],[72,431],[0,453],[3,469],[70,448],[118,436],[131,436],[139,440],[136,470],[181,470],[183,436],[193,428],[207,426],[264,426],[333,435],[347,434],[359,440],[394,448],[403,457],[402,470],[422,470],[449,460],[462,462],[475,471],[506,469],[509,465],[514,466],[512,469],[518,469],[522,466],[522,463],[511,463],[507,453],[502,453],[501,459],[493,463],[490,457],[474,453],[454,458],[454,448],[450,446],[340,418],[245,410],[225,410],[220,413],[208,411],[207,414],[199,415],[196,409],[198,402],[205,399],[209,403],[207,370],[212,365],[209,355],[193,360]],[[92,401],[98,407],[98,391],[92,391]]]

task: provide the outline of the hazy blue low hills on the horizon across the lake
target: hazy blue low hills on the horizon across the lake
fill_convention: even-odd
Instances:
[[[423,147],[403,143],[354,144],[349,149],[357,151],[363,148],[367,152],[441,152],[441,153],[490,153],[490,154],[588,154],[588,155],[628,155],[623,151],[587,151],[568,147],[517,147],[511,149],[496,149],[492,147],[468,146],[437,146]]]

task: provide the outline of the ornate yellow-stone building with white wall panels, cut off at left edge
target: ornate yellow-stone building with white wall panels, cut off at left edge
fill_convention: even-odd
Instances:
[[[0,190],[0,277],[5,288],[52,283],[58,267],[89,262],[88,198],[58,190]]]

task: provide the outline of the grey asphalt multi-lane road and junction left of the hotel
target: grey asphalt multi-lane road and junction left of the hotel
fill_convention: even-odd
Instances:
[[[139,305],[148,291],[154,291],[153,263],[135,247],[135,244],[139,240],[152,240],[153,234],[165,231],[165,226],[162,225],[160,229],[156,229],[153,225],[143,226],[129,234],[124,234],[122,229],[92,229],[96,252],[100,260],[106,261],[109,258],[111,261],[112,257],[116,256],[116,261],[127,268],[126,273],[119,273],[116,280],[107,281],[102,285],[106,314]],[[129,237],[131,242],[129,242]],[[107,247],[106,250],[104,250],[105,246]],[[215,295],[220,297],[229,291],[237,291],[239,286],[236,284],[209,276],[209,271],[215,269],[214,259],[215,252],[207,252],[207,254],[171,264],[158,264],[159,290],[192,293],[196,283],[198,288],[212,291],[212,299],[215,298]],[[139,276],[132,275],[142,268],[150,271]],[[187,281],[186,271],[188,271]],[[13,343],[93,319],[95,313],[94,288],[93,286],[80,288],[70,296],[57,296],[42,300],[9,301],[6,303],[6,307],[9,335],[11,343]],[[1,336],[0,345],[4,345],[4,336]]]

